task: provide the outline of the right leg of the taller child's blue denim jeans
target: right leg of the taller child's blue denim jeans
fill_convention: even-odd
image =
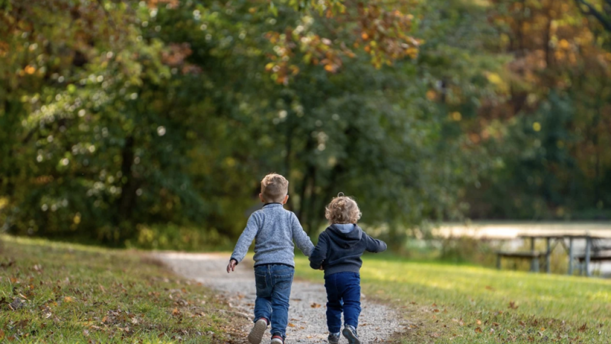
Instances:
[[[291,267],[283,265],[272,266],[271,334],[279,334],[282,338],[287,336],[288,302],[291,296],[293,275],[295,275],[295,269]]]

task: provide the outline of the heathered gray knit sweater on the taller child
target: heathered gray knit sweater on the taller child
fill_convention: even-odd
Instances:
[[[255,239],[255,266],[262,264],[285,264],[295,266],[295,245],[306,256],[310,256],[314,245],[291,211],[280,203],[265,204],[263,209],[252,213],[235,249],[232,259],[240,263],[246,256],[252,239]]]

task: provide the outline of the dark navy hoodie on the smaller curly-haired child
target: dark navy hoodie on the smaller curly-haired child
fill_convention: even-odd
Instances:
[[[310,256],[310,267],[320,269],[322,265],[325,276],[344,271],[358,273],[363,264],[360,256],[365,251],[384,250],[384,241],[373,239],[357,225],[331,225],[318,236],[318,244]]]

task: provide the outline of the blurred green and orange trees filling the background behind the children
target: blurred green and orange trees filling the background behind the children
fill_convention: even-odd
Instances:
[[[0,0],[0,223],[197,249],[240,234],[273,171],[310,233],[337,192],[395,239],[465,217],[609,219],[610,32],[591,13]]]

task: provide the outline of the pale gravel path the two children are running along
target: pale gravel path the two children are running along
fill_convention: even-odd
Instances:
[[[235,312],[252,320],[255,302],[255,282],[252,262],[244,261],[236,271],[227,274],[226,267],[229,255],[217,253],[158,253],[167,266],[178,274],[202,282],[204,285],[222,292]],[[293,282],[290,308],[288,311],[289,343],[326,343],[327,326],[325,315],[326,292],[322,283]],[[368,301],[361,297],[363,308],[359,318],[359,336],[362,343],[389,342],[395,331],[404,326],[399,323],[400,316],[389,307]],[[291,326],[292,325],[292,326]],[[244,333],[250,331],[251,325],[244,327]],[[268,334],[263,337],[269,338]],[[340,343],[348,341],[342,337]]]

